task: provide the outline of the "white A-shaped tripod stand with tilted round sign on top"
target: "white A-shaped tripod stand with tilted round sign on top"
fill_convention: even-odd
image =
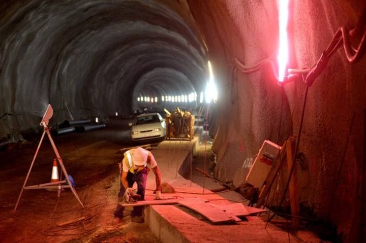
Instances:
[[[52,106],[51,105],[48,105],[47,107],[47,110],[43,116],[43,119],[40,123],[41,126],[44,127],[44,130],[43,130],[43,134],[42,134],[42,137],[41,137],[41,140],[38,144],[38,147],[37,147],[37,150],[36,150],[36,154],[35,156],[33,157],[33,161],[32,161],[32,164],[31,164],[31,167],[29,167],[29,170],[28,170],[28,173],[27,173],[27,176],[25,178],[25,181],[24,181],[24,184],[23,184],[23,187],[20,191],[20,194],[19,194],[19,197],[18,197],[18,200],[17,200],[17,203],[15,204],[15,208],[14,208],[14,212],[16,211],[17,207],[18,207],[18,204],[19,204],[19,201],[20,201],[20,197],[23,193],[23,190],[32,190],[32,189],[49,189],[49,188],[70,188],[72,193],[74,194],[74,196],[76,197],[76,199],[79,201],[79,203],[81,204],[82,207],[84,207],[84,205],[82,204],[82,202],[80,201],[77,193],[76,193],[76,190],[75,188],[72,186],[71,182],[70,182],[70,179],[69,179],[69,175],[66,171],[66,168],[64,166],[64,163],[60,157],[60,155],[58,154],[58,151],[57,151],[57,148],[52,140],[52,137],[51,137],[51,134],[49,132],[49,128],[47,127],[48,125],[48,121],[49,119],[51,119],[53,115],[53,109],[52,109]],[[62,168],[62,171],[65,175],[65,180],[63,181],[58,181],[58,182],[50,182],[50,183],[44,183],[44,184],[38,184],[38,185],[33,185],[33,186],[25,186],[27,180],[28,180],[28,177],[29,177],[29,174],[31,173],[31,170],[32,170],[32,167],[33,167],[33,164],[36,160],[36,157],[37,157],[37,154],[38,154],[38,151],[41,147],[41,144],[42,144],[42,141],[43,141],[43,138],[44,138],[44,135],[47,133],[47,136],[49,138],[49,141],[51,142],[51,145],[52,145],[52,148],[53,148],[53,151],[56,155],[56,158],[57,158],[57,161],[59,163],[59,165],[61,166]],[[67,184],[66,184],[67,183]],[[62,185],[62,184],[65,184],[65,185]]]

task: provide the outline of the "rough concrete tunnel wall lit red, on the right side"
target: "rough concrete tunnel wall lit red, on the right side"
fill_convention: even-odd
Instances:
[[[282,94],[270,68],[249,75],[232,72],[234,58],[246,65],[268,57],[276,60],[277,1],[188,2],[207,40],[220,83],[215,173],[221,180],[239,185],[245,181],[263,140],[282,145],[289,135],[297,135],[306,85],[301,81],[285,85],[283,123],[278,135]],[[364,7],[363,1],[294,1],[294,66],[290,67],[310,68],[335,31],[344,24],[355,25]],[[299,144],[299,152],[306,155],[308,164],[296,168],[301,202],[318,217],[332,220],[350,242],[362,232],[358,195],[364,186],[365,64],[365,57],[359,63],[348,63],[340,49],[309,88]]]

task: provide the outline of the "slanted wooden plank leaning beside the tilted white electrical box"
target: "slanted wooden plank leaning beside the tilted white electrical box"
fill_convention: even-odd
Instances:
[[[258,208],[260,208],[261,206],[264,205],[265,198],[266,198],[267,194],[269,193],[269,190],[270,190],[273,182],[276,179],[278,171],[281,168],[281,165],[283,163],[285,153],[286,153],[286,145],[287,145],[287,141],[281,147],[281,151],[280,151],[279,155],[277,156],[277,158],[275,160],[275,163],[272,164],[272,167],[268,172],[267,178],[263,183],[263,187],[261,188],[261,192],[259,194],[259,199],[258,199],[258,202],[256,204],[256,207],[258,207]]]

